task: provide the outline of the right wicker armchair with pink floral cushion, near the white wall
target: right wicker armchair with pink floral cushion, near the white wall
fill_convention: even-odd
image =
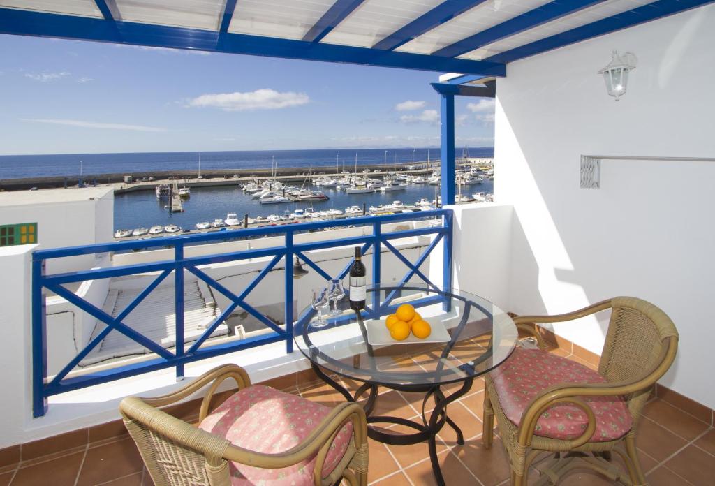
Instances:
[[[544,351],[534,323],[564,322],[605,309],[611,309],[611,320],[598,372]],[[569,314],[514,321],[536,337],[540,349],[518,347],[486,377],[483,420],[488,448],[496,415],[511,484],[526,485],[530,465],[550,454],[535,466],[541,472],[536,484],[556,484],[567,472],[588,467],[613,481],[645,485],[636,429],[651,387],[676,355],[678,332],[671,319],[649,302],[616,297]],[[611,452],[621,457],[627,474],[611,462]]]

